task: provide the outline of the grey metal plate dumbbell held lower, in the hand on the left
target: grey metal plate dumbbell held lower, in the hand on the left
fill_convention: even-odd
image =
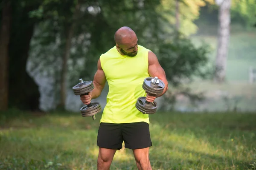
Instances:
[[[75,95],[80,96],[81,94],[88,94],[90,91],[94,89],[93,81],[83,81],[83,79],[79,79],[79,83],[75,85],[72,89]],[[101,106],[99,102],[90,103],[89,105],[85,105],[80,108],[81,115],[83,117],[92,116],[93,120],[95,120],[95,115],[101,111]]]

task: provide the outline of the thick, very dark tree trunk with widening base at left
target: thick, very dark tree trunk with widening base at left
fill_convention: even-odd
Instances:
[[[9,45],[9,107],[27,111],[39,111],[38,85],[26,71],[30,40],[35,20],[28,13],[38,6],[13,5],[12,29]]]

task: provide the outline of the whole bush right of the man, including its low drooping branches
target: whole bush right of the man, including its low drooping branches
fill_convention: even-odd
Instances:
[[[209,67],[209,52],[209,45],[196,47],[182,35],[174,36],[160,45],[157,55],[169,81],[169,91],[163,96],[160,110],[173,110],[176,97],[179,95],[186,96],[192,105],[204,99],[201,92],[196,93],[183,85],[192,82],[195,78],[211,79],[213,67]]]

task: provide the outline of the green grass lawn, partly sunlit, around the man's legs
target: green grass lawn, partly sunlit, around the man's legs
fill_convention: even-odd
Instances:
[[[100,116],[2,113],[0,169],[96,170]],[[155,113],[150,120],[153,170],[256,169],[256,114]],[[136,169],[131,150],[116,152],[111,170]]]

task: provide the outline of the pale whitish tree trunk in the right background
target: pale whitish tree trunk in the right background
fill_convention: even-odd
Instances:
[[[215,81],[224,82],[227,68],[227,54],[230,37],[231,0],[223,0],[219,8],[218,49],[215,65]]]

